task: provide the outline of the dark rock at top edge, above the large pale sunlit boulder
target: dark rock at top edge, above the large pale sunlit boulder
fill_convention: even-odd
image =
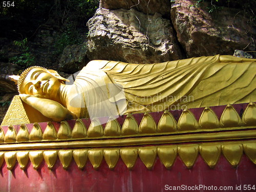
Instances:
[[[160,13],[167,16],[170,14],[169,0],[100,0],[99,6],[110,10],[133,8],[139,12],[151,15]]]

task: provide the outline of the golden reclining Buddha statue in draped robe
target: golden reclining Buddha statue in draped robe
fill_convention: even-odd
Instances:
[[[61,121],[256,101],[256,59],[202,56],[154,64],[93,60],[66,83],[30,67],[18,79],[22,100]]]

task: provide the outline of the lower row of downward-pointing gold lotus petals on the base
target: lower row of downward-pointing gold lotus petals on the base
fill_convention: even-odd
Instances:
[[[104,160],[110,169],[114,169],[121,158],[129,169],[133,169],[138,158],[147,169],[152,169],[157,157],[161,163],[170,169],[177,157],[187,168],[192,168],[200,155],[204,162],[214,168],[221,154],[228,163],[236,167],[241,161],[243,153],[256,165],[256,141],[243,142],[217,142],[203,144],[178,144],[142,147],[114,147],[114,148],[80,148],[73,150],[39,150],[39,151],[12,151],[0,152],[0,166],[6,162],[7,169],[12,169],[18,162],[21,169],[26,169],[30,160],[33,168],[38,169],[45,160],[49,169],[52,169],[57,161],[63,169],[68,169],[74,159],[79,169],[86,166],[88,159],[94,169],[98,169]]]

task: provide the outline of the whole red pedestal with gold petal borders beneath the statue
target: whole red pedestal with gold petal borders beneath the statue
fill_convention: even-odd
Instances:
[[[124,115],[105,124],[2,126],[0,188],[248,191],[256,187],[255,110],[242,103]]]

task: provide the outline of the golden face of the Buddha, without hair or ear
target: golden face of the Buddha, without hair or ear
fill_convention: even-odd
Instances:
[[[32,69],[23,83],[26,94],[46,99],[55,99],[60,87],[60,81],[53,74],[38,68]]]

